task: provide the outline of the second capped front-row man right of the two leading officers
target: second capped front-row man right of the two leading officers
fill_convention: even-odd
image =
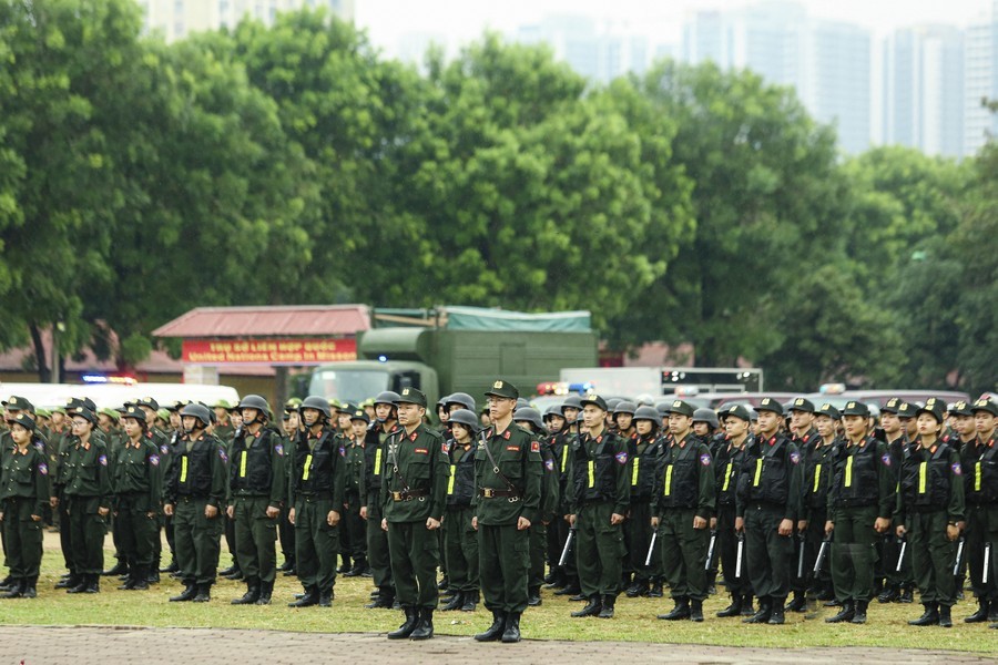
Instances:
[[[714,516],[714,463],[693,433],[693,407],[674,400],[669,408],[672,439],[659,457],[652,526],[662,541],[662,569],[675,607],[659,618],[703,621],[707,596],[707,525]]]

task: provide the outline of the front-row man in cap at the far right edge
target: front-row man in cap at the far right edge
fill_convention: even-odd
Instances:
[[[986,543],[991,543],[992,552],[998,548],[998,539],[994,536],[998,531],[998,436],[995,427],[998,405],[989,399],[979,399],[968,409],[966,402],[957,402],[954,412],[958,430],[966,430],[968,411],[975,437],[960,449],[960,468],[966,478],[964,491],[967,500],[964,551],[978,610],[964,618],[964,622],[979,623],[988,618],[998,621],[998,585],[995,581],[998,566],[992,566],[985,559]],[[963,431],[960,436],[963,438]],[[989,573],[987,583],[984,582],[986,566]]]

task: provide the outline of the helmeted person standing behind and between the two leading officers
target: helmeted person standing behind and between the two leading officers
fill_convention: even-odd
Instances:
[[[458,408],[450,411],[449,422],[454,441],[450,442],[450,481],[444,516],[444,556],[455,594],[441,610],[473,612],[479,589],[478,534],[471,523],[478,418],[475,411]]]

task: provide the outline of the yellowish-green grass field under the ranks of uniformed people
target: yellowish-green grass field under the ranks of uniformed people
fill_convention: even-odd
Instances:
[[[110,538],[108,539],[110,544]],[[224,552],[223,565],[228,554]],[[109,557],[108,562],[113,563]],[[109,563],[110,565],[110,563]],[[8,625],[116,625],[159,627],[231,627],[304,632],[386,632],[401,623],[401,612],[365,610],[371,591],[370,579],[338,577],[336,598],[332,608],[308,607],[292,610],[287,603],[301,591],[295,577],[277,577],[274,603],[269,606],[233,606],[232,598],[245,591],[242,583],[220,581],[213,589],[212,602],[205,604],[170,603],[167,597],[180,592],[177,581],[163,576],[163,583],[150,591],[118,591],[116,579],[103,577],[98,595],[67,594],[53,586],[62,570],[58,536],[45,535],[45,555],[35,600],[0,601],[0,615]],[[829,610],[805,618],[803,614],[787,614],[783,626],[745,625],[740,620],[716,618],[714,612],[727,604],[723,594],[704,603],[706,621],[662,622],[655,614],[672,607],[665,598],[621,597],[613,620],[571,618],[569,614],[581,605],[543,593],[543,605],[530,608],[523,616],[523,636],[534,640],[612,640],[640,642],[672,642],[684,644],[716,644],[752,647],[812,646],[883,646],[905,648],[955,649],[998,653],[998,631],[987,624],[967,625],[963,617],[976,608],[965,601],[954,608],[953,628],[938,626],[914,628],[906,621],[921,613],[921,605],[880,605],[869,608],[869,622],[864,626],[831,625],[823,618]],[[479,605],[475,613],[438,612],[435,628],[440,635],[471,635],[485,630],[491,615]]]

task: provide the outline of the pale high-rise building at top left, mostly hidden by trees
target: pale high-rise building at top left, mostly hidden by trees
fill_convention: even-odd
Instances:
[[[145,29],[166,41],[191,32],[233,27],[251,17],[266,24],[278,12],[325,7],[346,21],[354,20],[354,0],[139,0],[145,12]]]

